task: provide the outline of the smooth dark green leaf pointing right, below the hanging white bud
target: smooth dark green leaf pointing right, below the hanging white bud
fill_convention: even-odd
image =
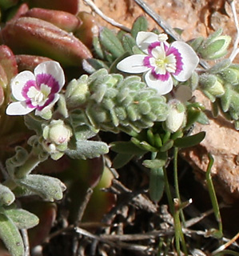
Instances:
[[[183,137],[183,138],[177,138],[174,141],[173,146],[177,146],[177,147],[180,147],[180,148],[196,146],[204,138],[205,138],[205,131],[201,131],[200,133],[194,134],[192,136],[187,136],[187,137]]]

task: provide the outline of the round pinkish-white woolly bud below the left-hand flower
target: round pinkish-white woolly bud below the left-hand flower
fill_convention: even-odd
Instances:
[[[62,120],[52,120],[50,125],[43,128],[42,146],[54,160],[61,158],[67,150],[68,142],[72,136],[70,126],[66,126]]]

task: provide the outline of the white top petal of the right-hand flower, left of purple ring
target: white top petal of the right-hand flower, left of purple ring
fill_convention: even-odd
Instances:
[[[136,37],[136,43],[137,46],[145,52],[145,54],[148,54],[148,46],[152,42],[157,42],[158,41],[158,36],[157,34],[153,32],[138,32],[137,37]]]

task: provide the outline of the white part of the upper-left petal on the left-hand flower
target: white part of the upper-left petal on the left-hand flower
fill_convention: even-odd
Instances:
[[[22,89],[29,80],[35,80],[34,74],[30,71],[22,71],[11,80],[10,86],[12,94],[18,101],[24,101],[26,99],[22,96]]]

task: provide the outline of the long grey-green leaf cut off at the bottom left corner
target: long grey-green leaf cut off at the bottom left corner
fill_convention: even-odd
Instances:
[[[24,256],[22,236],[14,222],[5,214],[0,214],[0,238],[11,256]]]

